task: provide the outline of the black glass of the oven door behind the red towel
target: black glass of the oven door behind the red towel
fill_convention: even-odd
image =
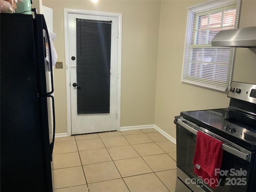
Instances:
[[[219,186],[211,188],[208,184],[200,183],[198,176],[193,173],[192,164],[196,146],[196,135],[180,126],[177,142],[177,166],[188,175],[186,182],[195,182],[206,192],[248,192],[252,163],[243,160],[229,152],[223,151],[220,168]],[[253,157],[252,157],[253,159]],[[208,182],[208,181],[206,181]]]

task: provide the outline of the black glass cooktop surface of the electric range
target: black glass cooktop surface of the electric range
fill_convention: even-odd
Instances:
[[[181,112],[180,116],[251,150],[256,150],[256,118],[228,108]]]

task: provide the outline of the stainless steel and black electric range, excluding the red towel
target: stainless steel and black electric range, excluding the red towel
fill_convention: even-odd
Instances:
[[[256,85],[232,82],[228,108],[186,111],[176,117],[176,192],[256,191]],[[222,144],[223,156],[216,188],[193,173],[197,132]]]

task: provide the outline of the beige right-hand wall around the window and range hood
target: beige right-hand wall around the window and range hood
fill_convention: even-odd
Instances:
[[[176,138],[174,116],[180,111],[224,108],[226,94],[180,82],[186,30],[186,8],[204,1],[162,1],[158,45],[155,124]],[[256,26],[256,1],[243,0],[240,27]],[[178,15],[178,16],[177,16]],[[255,52],[255,53],[254,53]],[[237,48],[234,81],[256,84],[256,51]]]

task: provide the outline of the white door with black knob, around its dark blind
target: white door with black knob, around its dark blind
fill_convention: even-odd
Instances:
[[[109,69],[109,95],[104,97],[103,100],[106,100],[109,97],[108,103],[104,103],[104,105],[108,105],[109,109],[104,112],[92,112],[87,111],[89,108],[94,108],[92,105],[93,102],[88,103],[81,102],[81,97],[86,97],[86,94],[93,90],[90,88],[90,85],[87,87],[82,87],[77,84],[78,76],[86,76],[85,72],[81,72],[81,64],[78,61],[77,65],[77,43],[76,43],[76,20],[84,20],[84,21],[106,21],[111,22],[111,50],[110,50],[110,69]],[[86,31],[86,30],[83,30]],[[80,30],[80,33],[83,33]],[[105,16],[93,16],[93,15],[84,15],[84,14],[68,14],[68,37],[69,37],[69,62],[70,62],[70,98],[71,98],[71,134],[82,134],[82,133],[92,133],[92,132],[103,132],[110,130],[117,130],[117,62],[118,62],[118,18],[115,17],[105,17]],[[82,42],[82,41],[81,41]],[[79,44],[80,42],[78,42]],[[96,44],[97,42],[95,42]],[[94,53],[93,50],[86,50],[86,46],[83,44],[79,44],[79,55],[86,55]],[[82,54],[81,54],[82,52]],[[100,58],[100,55],[94,56],[95,58]],[[90,58],[91,59],[91,58]],[[91,64],[87,64],[91,65]],[[78,68],[77,68],[78,66]],[[104,66],[102,66],[104,67]],[[77,71],[78,70],[78,71]],[[78,74],[78,75],[77,75]],[[89,77],[90,75],[88,75]],[[95,78],[95,77],[94,77]],[[91,80],[87,78],[88,81]],[[77,84],[77,86],[75,84]],[[74,84],[74,86],[73,86]],[[102,85],[102,90],[104,90],[104,85]],[[90,89],[90,90],[89,90]],[[101,91],[101,90],[100,90]],[[86,92],[86,94],[85,94]],[[84,95],[83,95],[84,94]],[[106,92],[104,93],[106,94]],[[100,94],[99,94],[100,95]],[[89,98],[90,96],[88,96]],[[91,96],[93,97],[93,96]],[[86,103],[86,104],[84,104]],[[89,106],[88,106],[89,105]],[[95,108],[97,107],[95,104]],[[81,112],[80,108],[84,108],[85,112]]]

